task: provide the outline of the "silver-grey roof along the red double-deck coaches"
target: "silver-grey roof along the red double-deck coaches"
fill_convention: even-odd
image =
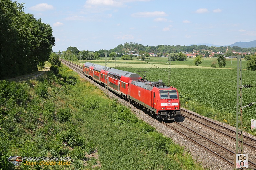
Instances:
[[[129,71],[118,70],[118,69],[114,69],[114,68],[110,68],[110,67],[107,67],[107,69],[106,69],[106,67],[104,67],[102,65],[93,64],[93,63],[90,63],[90,62],[86,62],[84,65],[88,66],[88,67],[93,66],[93,67],[98,68],[98,69],[107,70],[108,72],[119,74],[119,75],[125,76],[125,77],[140,77],[140,75],[136,74],[136,73],[132,73],[132,72],[129,72]]]

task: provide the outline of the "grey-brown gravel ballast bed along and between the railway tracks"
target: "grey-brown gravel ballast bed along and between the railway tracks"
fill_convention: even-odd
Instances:
[[[74,70],[76,70],[78,73],[83,74],[82,70],[83,68],[72,63],[69,61],[63,61],[63,63],[65,63],[67,66],[71,67],[73,65]],[[85,78],[86,80],[90,81],[92,84],[96,85],[99,89],[101,89],[102,91],[104,91],[105,93],[107,93],[106,89],[102,86],[100,86],[98,83],[94,82],[93,80],[87,78],[84,75],[81,75],[82,78]],[[176,143],[179,143],[181,146],[184,146],[186,149],[189,150],[189,152],[191,153],[191,155],[193,156],[193,158],[202,164],[202,166],[204,168],[210,168],[210,169],[233,169],[234,168],[234,152],[232,152],[232,150],[235,150],[236,147],[236,143],[234,141],[233,138],[229,138],[227,136],[229,136],[226,131],[222,131],[223,129],[233,129],[234,131],[234,127],[231,127],[227,124],[221,123],[221,122],[217,122],[215,120],[203,117],[201,115],[198,115],[197,113],[194,113],[192,111],[186,110],[186,109],[182,109],[182,114],[178,119],[179,124],[183,124],[185,127],[188,127],[190,129],[193,129],[194,131],[196,131],[198,134],[201,134],[202,136],[208,138],[211,141],[214,141],[213,143],[217,143],[215,145],[225,145],[226,147],[226,151],[224,153],[225,156],[223,157],[229,157],[226,158],[227,161],[224,160],[224,158],[219,158],[216,156],[216,154],[212,154],[209,153],[208,149],[199,146],[198,144],[194,143],[194,141],[188,141],[187,137],[184,137],[182,135],[180,135],[180,132],[177,132],[171,128],[166,128],[166,126],[164,124],[162,124],[160,121],[156,120],[155,118],[152,118],[151,116],[149,116],[148,114],[145,114],[142,110],[134,107],[133,105],[131,105],[128,101],[125,101],[121,98],[118,98],[114,93],[108,93],[110,98],[115,98],[118,99],[118,102],[131,108],[131,110],[137,115],[138,118],[144,120],[145,122],[147,122],[148,124],[150,124],[151,126],[155,127],[156,130],[158,130],[159,132],[163,133],[164,135],[172,138]],[[187,113],[185,113],[185,111],[187,111]],[[196,120],[195,117],[188,117],[188,113],[193,113],[195,116],[197,117],[202,117],[205,120],[198,120],[197,122],[194,121],[194,119]],[[198,118],[197,118],[198,119]],[[215,124],[211,124],[208,125],[209,127],[207,127],[206,125],[202,125],[202,123],[199,123],[200,121],[209,121],[209,122],[216,122]],[[175,126],[174,124],[176,123],[169,123],[171,124],[171,126]],[[209,123],[210,124],[210,123]],[[219,127],[219,129],[222,131],[221,133],[217,132],[216,130],[217,125],[222,125],[222,127]],[[207,128],[206,128],[207,127]],[[214,130],[213,130],[214,129]],[[179,130],[178,130],[179,131]],[[187,130],[188,131],[188,130]],[[228,130],[227,130],[228,131]],[[225,134],[225,135],[223,135]],[[247,133],[244,133],[244,136]],[[252,138],[252,143],[253,140],[255,141],[256,137],[248,134],[248,136],[251,136]],[[193,136],[190,136],[190,138],[194,138]],[[190,140],[190,139],[189,139]],[[245,143],[251,143],[251,142],[247,142],[247,139],[245,140]],[[251,144],[250,144],[251,145]],[[252,144],[253,147],[255,147],[255,143]],[[211,150],[211,149],[210,149]],[[225,149],[224,149],[225,150]],[[216,152],[216,151],[214,151]],[[221,153],[221,152],[220,152]],[[228,154],[229,153],[229,154]],[[251,160],[255,160],[255,149],[250,148],[250,146],[245,146],[244,145],[244,153],[248,153],[249,154],[249,161]],[[232,155],[233,154],[233,155]],[[220,155],[220,154],[217,154]],[[256,165],[254,163],[251,162],[251,165],[249,165],[249,167],[251,168],[255,168]]]

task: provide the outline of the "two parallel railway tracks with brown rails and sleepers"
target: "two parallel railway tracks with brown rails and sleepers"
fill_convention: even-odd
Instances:
[[[83,74],[83,67],[78,66],[70,61],[66,61],[61,59],[61,61],[72,67],[74,70],[80,72]],[[214,130],[218,132],[221,135],[224,135],[226,137],[229,137],[230,139],[236,141],[236,132],[223,127],[217,123],[211,122],[205,118],[199,117],[193,113],[187,112],[183,109],[181,109],[181,116],[191,119],[192,121],[195,121],[207,128],[210,128],[211,130]],[[208,150],[212,154],[216,155],[217,157],[223,159],[228,164],[234,166],[234,152],[227,149],[224,146],[219,145],[218,143],[210,140],[207,137],[204,137],[203,135],[193,131],[192,129],[189,129],[188,127],[183,126],[181,123],[174,121],[173,123],[165,123],[162,122],[165,126],[174,129],[176,132],[182,134],[184,137],[188,138],[189,140],[195,142],[197,145],[203,147],[204,149]],[[243,135],[243,144],[245,146],[248,146],[255,150],[256,152],[256,140],[252,139],[250,137],[247,137]],[[249,168],[255,169],[256,164],[249,160]]]

